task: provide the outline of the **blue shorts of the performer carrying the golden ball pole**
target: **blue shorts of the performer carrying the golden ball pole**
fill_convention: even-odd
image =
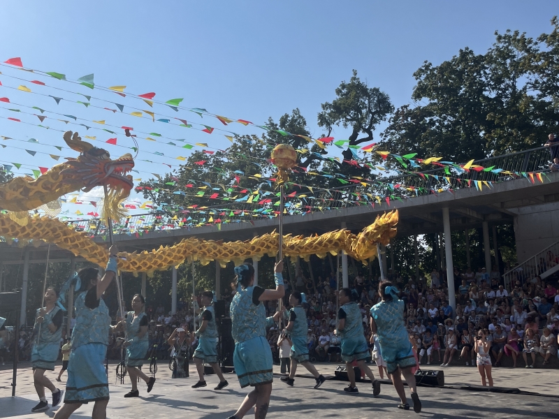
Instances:
[[[233,365],[241,388],[273,381],[272,351],[263,336],[235,344]]]

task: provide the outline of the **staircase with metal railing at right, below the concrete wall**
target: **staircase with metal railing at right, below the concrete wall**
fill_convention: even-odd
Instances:
[[[516,279],[524,284],[525,281],[530,281],[536,275],[546,279],[556,272],[559,272],[559,242],[551,244],[508,272],[504,272],[504,286],[510,290],[510,284],[514,284]]]

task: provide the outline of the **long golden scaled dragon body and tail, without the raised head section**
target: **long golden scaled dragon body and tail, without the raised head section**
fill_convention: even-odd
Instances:
[[[314,254],[320,258],[328,253],[333,255],[343,250],[356,260],[370,260],[377,254],[377,242],[388,244],[396,235],[398,211],[377,216],[375,222],[357,235],[348,230],[335,230],[314,237],[284,236],[284,255],[301,256],[308,260]],[[108,250],[97,244],[85,233],[69,228],[57,219],[29,217],[25,225],[15,223],[8,216],[0,215],[0,235],[17,237],[20,244],[25,240],[45,240],[57,244],[61,249],[71,251],[75,256],[82,256],[96,265],[104,265]],[[177,266],[185,260],[200,260],[207,265],[210,260],[217,260],[222,267],[233,261],[242,263],[247,258],[259,260],[262,256],[275,256],[279,246],[277,233],[254,237],[245,242],[221,242],[214,240],[184,239],[173,246],[159,247],[152,251],[140,253],[119,253],[119,270],[126,272],[153,272]]]

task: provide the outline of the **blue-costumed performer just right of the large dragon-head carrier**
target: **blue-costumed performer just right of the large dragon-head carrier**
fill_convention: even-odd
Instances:
[[[154,377],[148,377],[141,369],[144,365],[145,356],[149,340],[147,336],[147,315],[144,312],[145,299],[142,295],[136,294],[132,297],[132,309],[126,313],[126,371],[132,382],[132,390],[127,392],[124,397],[138,397],[138,377],[142,378],[147,384],[147,392],[152,391],[155,383]]]

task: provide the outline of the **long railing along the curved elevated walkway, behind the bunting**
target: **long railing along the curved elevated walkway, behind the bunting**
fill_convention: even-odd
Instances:
[[[559,150],[558,150],[559,151]],[[474,182],[505,182],[522,177],[524,172],[546,172],[549,170],[551,154],[549,147],[538,147],[502,156],[489,157],[474,161],[475,165],[483,166],[489,170],[469,172],[461,169],[458,165],[437,168],[423,172],[415,172],[407,175],[377,178],[375,182],[367,185],[361,183],[335,187],[333,189],[313,191],[301,191],[293,189],[297,195],[287,200],[286,210],[291,211],[290,205],[308,206],[312,211],[327,211],[333,208],[346,208],[358,205],[375,203],[379,199],[384,202],[389,199],[413,198],[415,196],[428,195],[434,192],[447,191],[449,189],[463,189],[475,187]],[[491,170],[493,169],[493,171]],[[500,171],[494,171],[501,169]],[[471,182],[470,182],[471,181]],[[484,186],[486,187],[486,186]],[[289,193],[289,192],[288,192]],[[304,194],[305,197],[300,195]],[[379,198],[377,198],[379,197]],[[228,219],[228,214],[222,215],[224,211],[245,212],[245,216],[235,214],[235,221],[251,221],[257,218],[268,218],[273,213],[266,214],[263,210],[277,211],[273,203],[267,205],[255,205],[254,203],[221,203],[215,207],[209,207],[205,213],[198,216],[198,221],[205,218]],[[259,212],[254,212],[259,210]],[[199,214],[199,212],[198,212]],[[179,228],[192,228],[182,220],[191,215],[187,210],[179,212],[156,211],[150,214],[129,216],[121,221],[113,222],[113,230],[120,234],[143,234],[144,231],[154,230],[176,230]],[[176,216],[176,218],[175,218]],[[66,221],[68,225],[75,226],[76,230],[84,231],[90,235],[107,235],[104,221],[100,219]]]

